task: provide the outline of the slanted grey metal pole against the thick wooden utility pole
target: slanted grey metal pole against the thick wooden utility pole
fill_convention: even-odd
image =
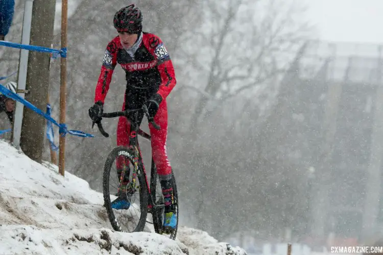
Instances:
[[[26,0],[24,6],[24,18],[22,21],[21,44],[29,45],[31,36],[32,7],[33,0]],[[20,62],[18,67],[17,94],[22,98],[25,98],[24,92],[27,82],[28,54],[29,50],[21,49]],[[13,146],[15,146],[17,149],[20,148],[20,135],[23,111],[24,106],[18,101],[16,101],[15,118],[13,121]]]

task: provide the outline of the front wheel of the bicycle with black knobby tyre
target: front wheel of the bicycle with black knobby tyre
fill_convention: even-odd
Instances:
[[[105,162],[103,175],[104,206],[110,224],[115,231],[119,232],[142,231],[148,214],[148,190],[145,178],[142,170],[139,170],[135,174],[135,183],[133,182],[133,164],[134,152],[122,146],[115,147]],[[117,171],[117,165],[119,169],[122,167],[124,170]],[[123,191],[118,189],[121,187],[119,178],[121,172],[126,174],[124,180],[128,183],[127,188]],[[118,196],[124,197],[124,209],[112,208],[112,201]],[[129,206],[126,206],[126,203]]]

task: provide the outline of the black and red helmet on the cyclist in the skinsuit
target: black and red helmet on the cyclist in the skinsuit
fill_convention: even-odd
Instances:
[[[142,31],[142,13],[134,4],[128,5],[116,12],[113,24],[118,32],[139,34]]]

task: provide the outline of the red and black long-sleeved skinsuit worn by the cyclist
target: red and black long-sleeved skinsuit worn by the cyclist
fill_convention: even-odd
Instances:
[[[152,155],[162,180],[170,180],[172,168],[166,154],[167,106],[166,97],[176,85],[176,77],[170,56],[161,39],[150,33],[142,33],[133,58],[121,44],[118,36],[109,42],[100,77],[95,90],[94,102],[104,103],[109,89],[112,73],[116,64],[126,72],[127,86],[123,110],[141,108],[152,96],[161,97],[161,103],[154,121],[160,126],[156,130],[149,124],[152,136]],[[117,126],[117,145],[129,145],[130,123],[125,117],[119,117]],[[117,163],[118,169],[118,163]]]

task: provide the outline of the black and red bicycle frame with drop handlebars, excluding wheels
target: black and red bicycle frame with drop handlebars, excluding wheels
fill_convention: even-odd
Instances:
[[[121,112],[103,113],[102,117],[113,118],[113,117],[118,117],[118,116],[124,116],[129,121],[129,118],[128,118],[129,113],[134,112],[134,120],[130,122],[130,130],[129,130],[129,149],[134,151],[132,182],[130,183],[130,185],[132,186],[133,189],[135,188],[135,186],[136,186],[136,174],[139,173],[139,171],[142,169],[142,174],[145,177],[145,184],[147,186],[147,190],[149,193],[148,208],[149,209],[163,208],[165,206],[164,204],[163,205],[156,205],[155,201],[153,201],[152,191],[150,189],[150,185],[148,182],[148,176],[146,173],[145,166],[143,165],[141,150],[140,150],[140,147],[138,144],[138,136],[137,135],[140,135],[143,138],[148,139],[149,141],[151,140],[151,136],[139,128],[138,112],[140,110],[141,109],[134,109],[134,110],[121,111]],[[146,112],[144,111],[143,113],[146,114],[147,116],[149,116],[148,111],[146,111]],[[153,119],[149,120],[149,122],[152,123],[156,129],[159,129],[159,126],[153,121]],[[99,127],[101,134],[103,134],[105,137],[109,137],[108,133],[106,133],[104,131],[101,122],[98,122],[97,125]],[[126,170],[127,170],[127,168],[126,168],[126,166],[124,166],[123,172],[121,173],[121,176],[120,176],[120,183],[118,185],[118,190],[121,188],[121,184],[123,183],[122,181],[124,180],[125,174],[127,172]],[[153,173],[155,170],[156,170],[155,164],[154,164],[154,161],[152,158],[151,176],[153,176]],[[151,182],[152,181],[156,181],[156,180],[151,180]]]

